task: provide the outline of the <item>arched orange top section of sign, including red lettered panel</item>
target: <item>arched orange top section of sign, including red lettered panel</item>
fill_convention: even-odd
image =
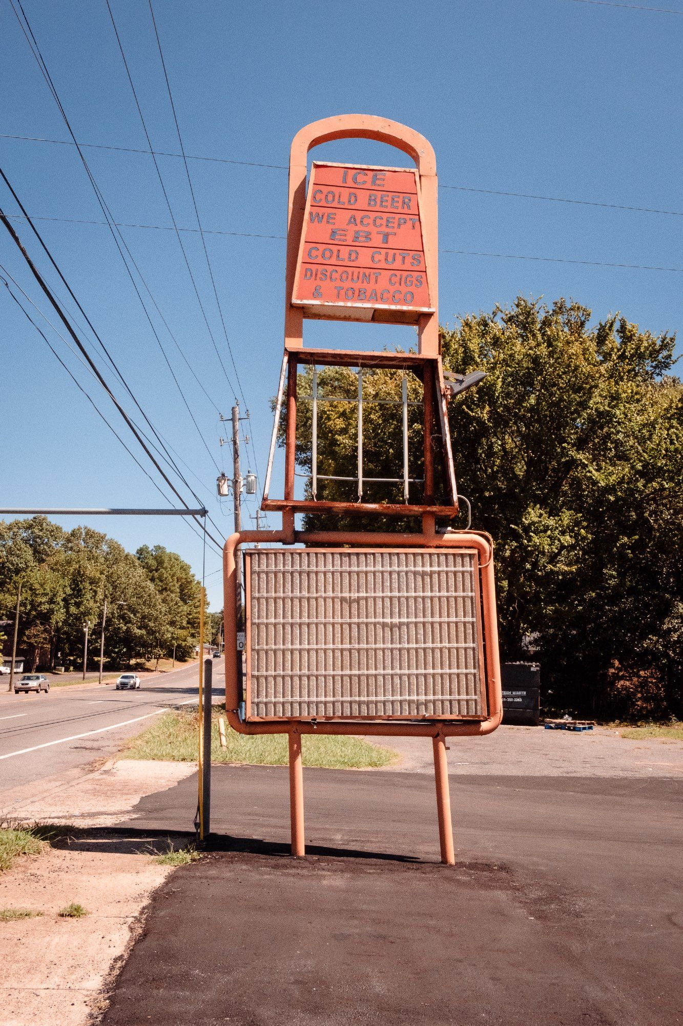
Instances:
[[[309,152],[314,147],[320,146],[323,143],[343,139],[369,139],[377,143],[386,143],[406,153],[414,162],[415,167],[412,169],[405,167],[363,167],[361,165],[351,166],[330,163],[314,164],[311,174],[311,186],[307,196],[307,158]],[[346,181],[343,181],[345,170],[347,171],[347,176]],[[353,181],[354,174],[357,179],[356,182]],[[374,185],[373,175],[376,175]],[[316,192],[317,198],[320,199],[317,190],[321,188],[323,189],[322,203],[314,202],[313,193]],[[331,194],[334,192],[336,193],[336,200],[333,202]],[[357,201],[352,204],[352,207],[348,203],[348,194],[350,192],[355,193],[357,196]],[[329,194],[329,203],[325,202],[327,194]],[[370,196],[373,197],[372,200],[370,200]],[[413,196],[415,197],[414,200]],[[375,202],[375,197],[377,206],[370,206],[370,202]],[[415,224],[414,227],[411,224],[408,228],[406,227],[406,222],[399,229],[398,219],[404,218],[408,213],[408,206],[403,210],[401,206],[404,201],[407,202],[408,200],[410,201],[410,206],[413,203],[417,203],[419,223],[418,225]],[[360,202],[367,205],[360,207]],[[381,216],[384,220],[372,224],[371,218],[369,224],[349,224],[349,215],[345,219],[344,214],[339,211],[348,211],[352,208],[355,214],[356,208],[358,208],[357,220],[359,220],[359,215],[362,216],[363,213],[369,213],[370,211],[373,211],[373,218]],[[347,230],[351,229],[354,234],[356,231],[370,232],[370,244],[363,243],[361,245],[360,241],[354,243],[354,234],[345,236],[347,240],[345,242],[342,241],[340,236],[338,239],[330,239],[329,233],[317,241],[312,237],[309,239],[308,229],[313,228],[314,224],[310,219],[312,210],[314,213],[323,213],[324,211],[325,214],[335,214],[335,222],[337,222],[335,225],[328,224],[327,222],[321,225],[316,219],[315,225],[316,227],[321,227],[322,234],[325,233],[326,228],[329,229],[330,233],[333,228],[339,230],[344,228]],[[388,225],[387,218],[394,216],[397,219],[396,224],[394,225],[393,222],[390,222]],[[410,216],[414,216],[414,212],[411,212]],[[347,221],[347,224],[344,224],[344,221]],[[396,232],[397,234],[391,235],[389,234],[390,232]],[[414,246],[418,234],[419,245]],[[361,237],[359,236],[359,238]],[[387,242],[384,242],[385,238]],[[333,252],[330,259],[326,260],[322,255],[319,255],[318,260],[314,260],[313,256],[307,259],[307,239],[309,239],[310,246],[320,245],[320,253],[322,253],[323,248],[332,248]],[[396,242],[397,245],[392,245],[392,241]],[[338,244],[335,244],[337,242]],[[329,245],[326,245],[326,243],[329,243]],[[410,246],[414,246],[414,248],[410,248]],[[337,260],[337,250],[339,256],[344,256],[347,247],[358,249],[358,261]],[[375,252],[376,260],[377,250],[381,253],[381,258],[378,266],[375,266],[372,261],[372,253]],[[396,278],[393,280],[393,283],[390,283],[388,275],[384,274],[381,276],[381,288],[377,291],[376,300],[359,300],[356,294],[354,294],[353,299],[347,299],[346,297],[346,288],[351,288],[352,286],[368,288],[368,282],[351,282],[350,279],[348,282],[330,281],[329,277],[324,282],[321,282],[318,277],[318,280],[314,282],[313,278],[306,278],[307,267],[312,271],[318,268],[320,275],[320,270],[329,264],[329,271],[337,268],[340,274],[342,271],[349,270],[351,264],[354,265],[354,268],[356,265],[359,268],[362,267],[363,265],[359,263],[361,260],[366,262],[366,265],[369,265],[370,270],[388,271],[389,275],[392,273],[400,274],[402,272],[401,267],[396,266],[394,263],[385,263],[385,260],[391,261],[392,252],[394,251],[399,254],[396,258],[398,262],[402,260],[400,252],[410,253],[409,258],[405,258],[406,267],[403,273],[418,273],[419,269],[417,267],[407,267],[407,262],[412,261],[413,255],[415,259],[421,258],[424,260],[427,285],[423,282],[419,286],[419,294],[417,294],[417,286],[414,285],[414,282],[412,286],[408,286],[405,284],[404,279],[399,284],[398,278]],[[343,264],[346,266],[343,267]],[[368,266],[365,267],[365,270],[368,270]],[[373,290],[372,284],[373,279],[369,283],[368,295]],[[320,298],[313,295],[316,285],[321,288],[322,294]],[[325,286],[324,289],[323,285]],[[344,297],[339,293],[337,298],[336,286],[338,285],[346,286]],[[427,291],[425,291],[426,288]],[[389,295],[387,295],[387,289],[390,290]],[[402,297],[398,295],[399,290]],[[312,124],[306,125],[296,133],[291,144],[289,156],[289,218],[287,226],[287,278],[285,291],[285,349],[298,349],[304,345],[304,317],[331,318],[335,320],[343,318],[348,320],[385,321],[389,323],[416,323],[419,352],[426,356],[438,357],[436,156],[432,144],[424,135],[420,135],[414,128],[408,128],[407,125],[399,124],[397,121],[389,121],[386,118],[373,117],[367,114],[342,114],[338,117],[323,118],[322,121],[314,121]],[[384,299],[379,299],[380,291],[385,292]],[[406,301],[405,293],[410,291],[412,291],[413,298],[411,301]],[[396,299],[402,302],[394,303],[392,300],[394,293],[396,293]],[[427,300],[427,302],[423,303],[424,300]]]

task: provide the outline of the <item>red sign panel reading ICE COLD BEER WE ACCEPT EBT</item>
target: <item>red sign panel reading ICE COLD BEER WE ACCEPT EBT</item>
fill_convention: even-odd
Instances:
[[[433,311],[416,171],[313,164],[292,303],[358,320]]]

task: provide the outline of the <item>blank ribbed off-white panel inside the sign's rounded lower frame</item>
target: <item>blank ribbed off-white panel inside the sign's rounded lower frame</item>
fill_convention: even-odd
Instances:
[[[477,553],[246,553],[246,718],[484,719]]]

